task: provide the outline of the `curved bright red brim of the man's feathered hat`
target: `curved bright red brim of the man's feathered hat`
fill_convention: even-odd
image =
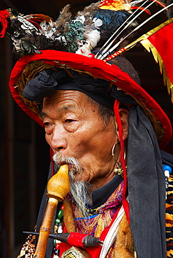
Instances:
[[[43,63],[43,67],[44,64],[49,64],[55,68],[72,68],[116,84],[120,89],[135,98],[137,103],[144,108],[144,111],[148,113],[149,116],[154,117],[157,123],[163,127],[160,148],[163,148],[163,146],[170,141],[172,137],[172,126],[163,109],[151,98],[149,93],[144,91],[139,84],[118,66],[114,64],[110,65],[105,61],[94,59],[93,57],[90,58],[70,52],[60,52],[57,50],[42,50],[41,52],[41,54],[33,54],[31,56],[25,55],[17,61],[10,74],[9,81],[10,91],[17,104],[41,126],[43,126],[43,122],[40,116],[38,116],[38,110],[36,111],[36,102],[27,100],[29,103],[29,105],[27,105],[26,102],[23,101],[21,94],[19,94],[19,89],[17,89],[22,80],[24,80],[22,75],[26,67],[34,63]],[[29,73],[31,73],[31,70]],[[22,83],[27,84],[27,81]]]

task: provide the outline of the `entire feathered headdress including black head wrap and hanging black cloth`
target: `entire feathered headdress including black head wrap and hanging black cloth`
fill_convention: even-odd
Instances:
[[[173,32],[173,19],[149,31],[130,45],[124,45],[123,43],[124,39],[132,36],[142,26],[143,23],[139,24],[140,13],[144,11],[149,13],[148,8],[153,2],[160,3],[151,1],[148,4],[148,1],[100,1],[100,3],[92,3],[89,7],[84,8],[75,17],[72,17],[69,6],[66,6],[56,21],[45,15],[22,15],[8,9],[1,11],[0,21],[3,25],[1,36],[8,27],[6,30],[13,40],[15,53],[22,56],[15,64],[10,75],[10,91],[17,104],[38,123],[42,125],[39,109],[42,99],[52,94],[56,89],[80,90],[110,108],[114,99],[116,99],[114,112],[119,127],[121,127],[119,112],[117,111],[119,103],[123,103],[130,109],[128,189],[130,213],[133,214],[130,221],[133,238],[137,253],[143,252],[144,249],[153,248],[149,245],[149,243],[151,244],[150,237],[159,238],[158,245],[154,247],[156,252],[153,256],[165,257],[164,255],[161,256],[165,253],[165,246],[163,246],[165,238],[163,229],[165,189],[163,182],[165,179],[160,168],[161,159],[157,140],[160,146],[165,146],[172,137],[172,127],[163,109],[138,84],[137,75],[132,66],[126,59],[119,56],[119,54],[139,42],[148,50],[151,49],[156,61],[160,63],[160,70],[163,71],[165,83],[167,83],[168,90],[172,94],[173,77],[170,70],[172,68],[170,60],[172,60],[173,52],[172,45],[167,38]],[[141,6],[137,7],[139,3],[141,3]],[[172,5],[173,3],[170,4],[170,6]],[[164,6],[158,13],[162,10],[165,10]],[[151,20],[153,16],[149,17],[148,20]],[[167,34],[169,34],[168,37]],[[164,48],[169,52],[168,55],[163,51]],[[115,57],[116,59],[114,59]],[[86,78],[86,83],[82,78]],[[67,81],[70,82],[68,87]],[[63,87],[64,85],[65,87]],[[140,123],[138,123],[139,121]],[[121,162],[125,173],[123,139],[121,130],[119,131]],[[134,165],[134,160],[137,160],[137,148],[142,144],[146,144],[146,146],[143,148],[144,151],[142,151],[142,148],[140,148],[140,151],[138,150],[140,157],[143,159],[143,162],[140,163],[142,167],[138,167],[138,161]],[[147,147],[147,144],[149,144],[149,147]],[[146,156],[150,157],[150,163],[148,163],[148,160],[144,160]],[[141,182],[140,176],[144,176],[144,174],[148,176],[146,176],[147,182],[145,182],[148,191],[144,188],[139,190],[139,184],[134,185],[134,182]],[[128,213],[126,173],[124,176],[123,205]],[[140,203],[142,197],[140,195],[145,192],[147,202],[149,202],[149,199],[151,199],[149,194],[153,191],[153,188],[155,188],[154,192],[156,193],[153,202],[156,202],[156,206],[161,208],[153,211],[153,221],[150,223],[148,218],[144,218],[144,214],[151,212],[153,202],[147,204],[148,210],[145,210],[143,215],[141,214],[142,217],[137,212],[142,210]],[[140,195],[137,196],[136,192],[140,192]],[[138,204],[140,206],[137,206]],[[141,243],[144,238],[141,239],[138,235],[139,229],[136,230],[136,227],[139,227],[137,223],[140,219],[145,219],[145,223],[140,225],[140,230],[145,232],[144,238],[148,240],[146,245]],[[146,224],[148,224],[148,227],[152,225],[153,232],[151,234],[147,234]],[[143,249],[141,246],[143,246]]]

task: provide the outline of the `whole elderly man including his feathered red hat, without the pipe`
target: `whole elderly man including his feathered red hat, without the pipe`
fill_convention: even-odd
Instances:
[[[170,141],[172,126],[139,85],[133,66],[121,56],[114,59],[125,48],[112,55],[108,51],[111,44],[117,47],[122,42],[121,37],[128,38],[137,25],[138,15],[131,14],[134,4],[101,1],[74,19],[66,7],[55,22],[45,15],[24,16],[11,9],[3,13],[4,27],[9,17],[8,34],[17,54],[23,56],[10,75],[12,95],[45,127],[52,154],[49,178],[64,163],[69,168],[70,191],[51,218],[52,233],[62,234],[50,236],[58,239],[46,243],[43,257],[173,255],[172,193],[166,191],[172,178],[172,155],[159,149]],[[128,22],[133,18],[136,22]],[[125,24],[126,31],[121,29]],[[167,24],[172,35],[170,20],[144,38]],[[115,37],[117,28],[123,33],[120,38]],[[100,50],[105,42],[109,45]],[[172,85],[171,79],[168,84]],[[37,232],[46,206],[44,195]],[[27,238],[20,258],[38,257],[33,255],[34,238]]]

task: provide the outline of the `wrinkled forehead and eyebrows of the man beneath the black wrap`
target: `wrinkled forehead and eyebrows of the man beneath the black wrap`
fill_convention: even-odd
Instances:
[[[86,121],[91,119],[103,120],[105,109],[80,91],[57,90],[52,96],[43,99],[43,109],[40,114],[43,119],[48,117],[56,120],[70,115],[70,117],[86,119]],[[107,114],[107,119],[108,116],[110,117],[110,113]]]

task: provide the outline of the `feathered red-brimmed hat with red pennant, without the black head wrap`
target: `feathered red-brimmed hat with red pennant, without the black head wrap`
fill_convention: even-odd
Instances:
[[[142,5],[137,7],[137,4],[141,2]],[[115,93],[112,93],[114,91],[113,84],[116,84],[118,89],[121,89],[121,92],[132,96],[135,102],[139,103],[150,117],[160,144],[162,146],[167,144],[170,140],[171,126],[163,110],[134,81],[137,76],[134,75],[135,73],[132,70],[129,72],[131,67],[128,68],[127,62],[125,63],[121,58],[109,62],[114,56],[140,42],[148,49],[150,47],[155,58],[160,61],[165,83],[167,83],[171,93],[173,78],[170,68],[170,55],[172,52],[169,52],[170,59],[169,56],[166,58],[165,55],[162,56],[165,51],[162,53],[164,43],[160,43],[160,40],[164,40],[163,35],[165,34],[165,31],[163,33],[161,28],[165,28],[168,31],[167,33],[171,33],[172,20],[146,33],[134,43],[121,47],[121,50],[119,50],[119,44],[121,43],[122,46],[123,39],[129,38],[137,28],[140,28],[141,24],[138,24],[140,14],[144,11],[149,13],[148,8],[154,1],[149,2],[144,7],[144,3],[147,2],[148,0],[145,2],[100,1],[100,3],[92,3],[84,8],[75,17],[72,17],[69,6],[66,6],[56,21],[46,15],[22,15],[11,9],[1,11],[0,21],[3,25],[1,37],[7,30],[13,40],[15,53],[18,56],[23,56],[20,61],[17,61],[10,75],[10,89],[18,105],[38,123],[41,123],[38,103],[36,103],[36,100],[40,100],[40,98],[29,98],[28,95],[28,99],[24,98],[22,95],[24,87],[41,70],[47,68],[52,68],[52,70],[63,68],[67,72],[69,69],[75,70],[110,82],[109,89],[105,91],[110,91],[113,98],[115,97]],[[156,2],[158,3],[158,1]],[[163,9],[165,8],[160,11]],[[161,31],[161,37],[159,31]],[[161,53],[157,52],[157,35]],[[152,36],[156,38],[156,45],[151,45],[153,43],[150,40]],[[112,55],[115,50],[118,51]],[[100,59],[104,61],[100,61]],[[169,64],[168,66],[167,63]],[[74,75],[70,74],[70,76]],[[52,92],[50,91],[50,93]],[[43,94],[42,98],[45,96]],[[132,103],[134,103],[134,100]]]

